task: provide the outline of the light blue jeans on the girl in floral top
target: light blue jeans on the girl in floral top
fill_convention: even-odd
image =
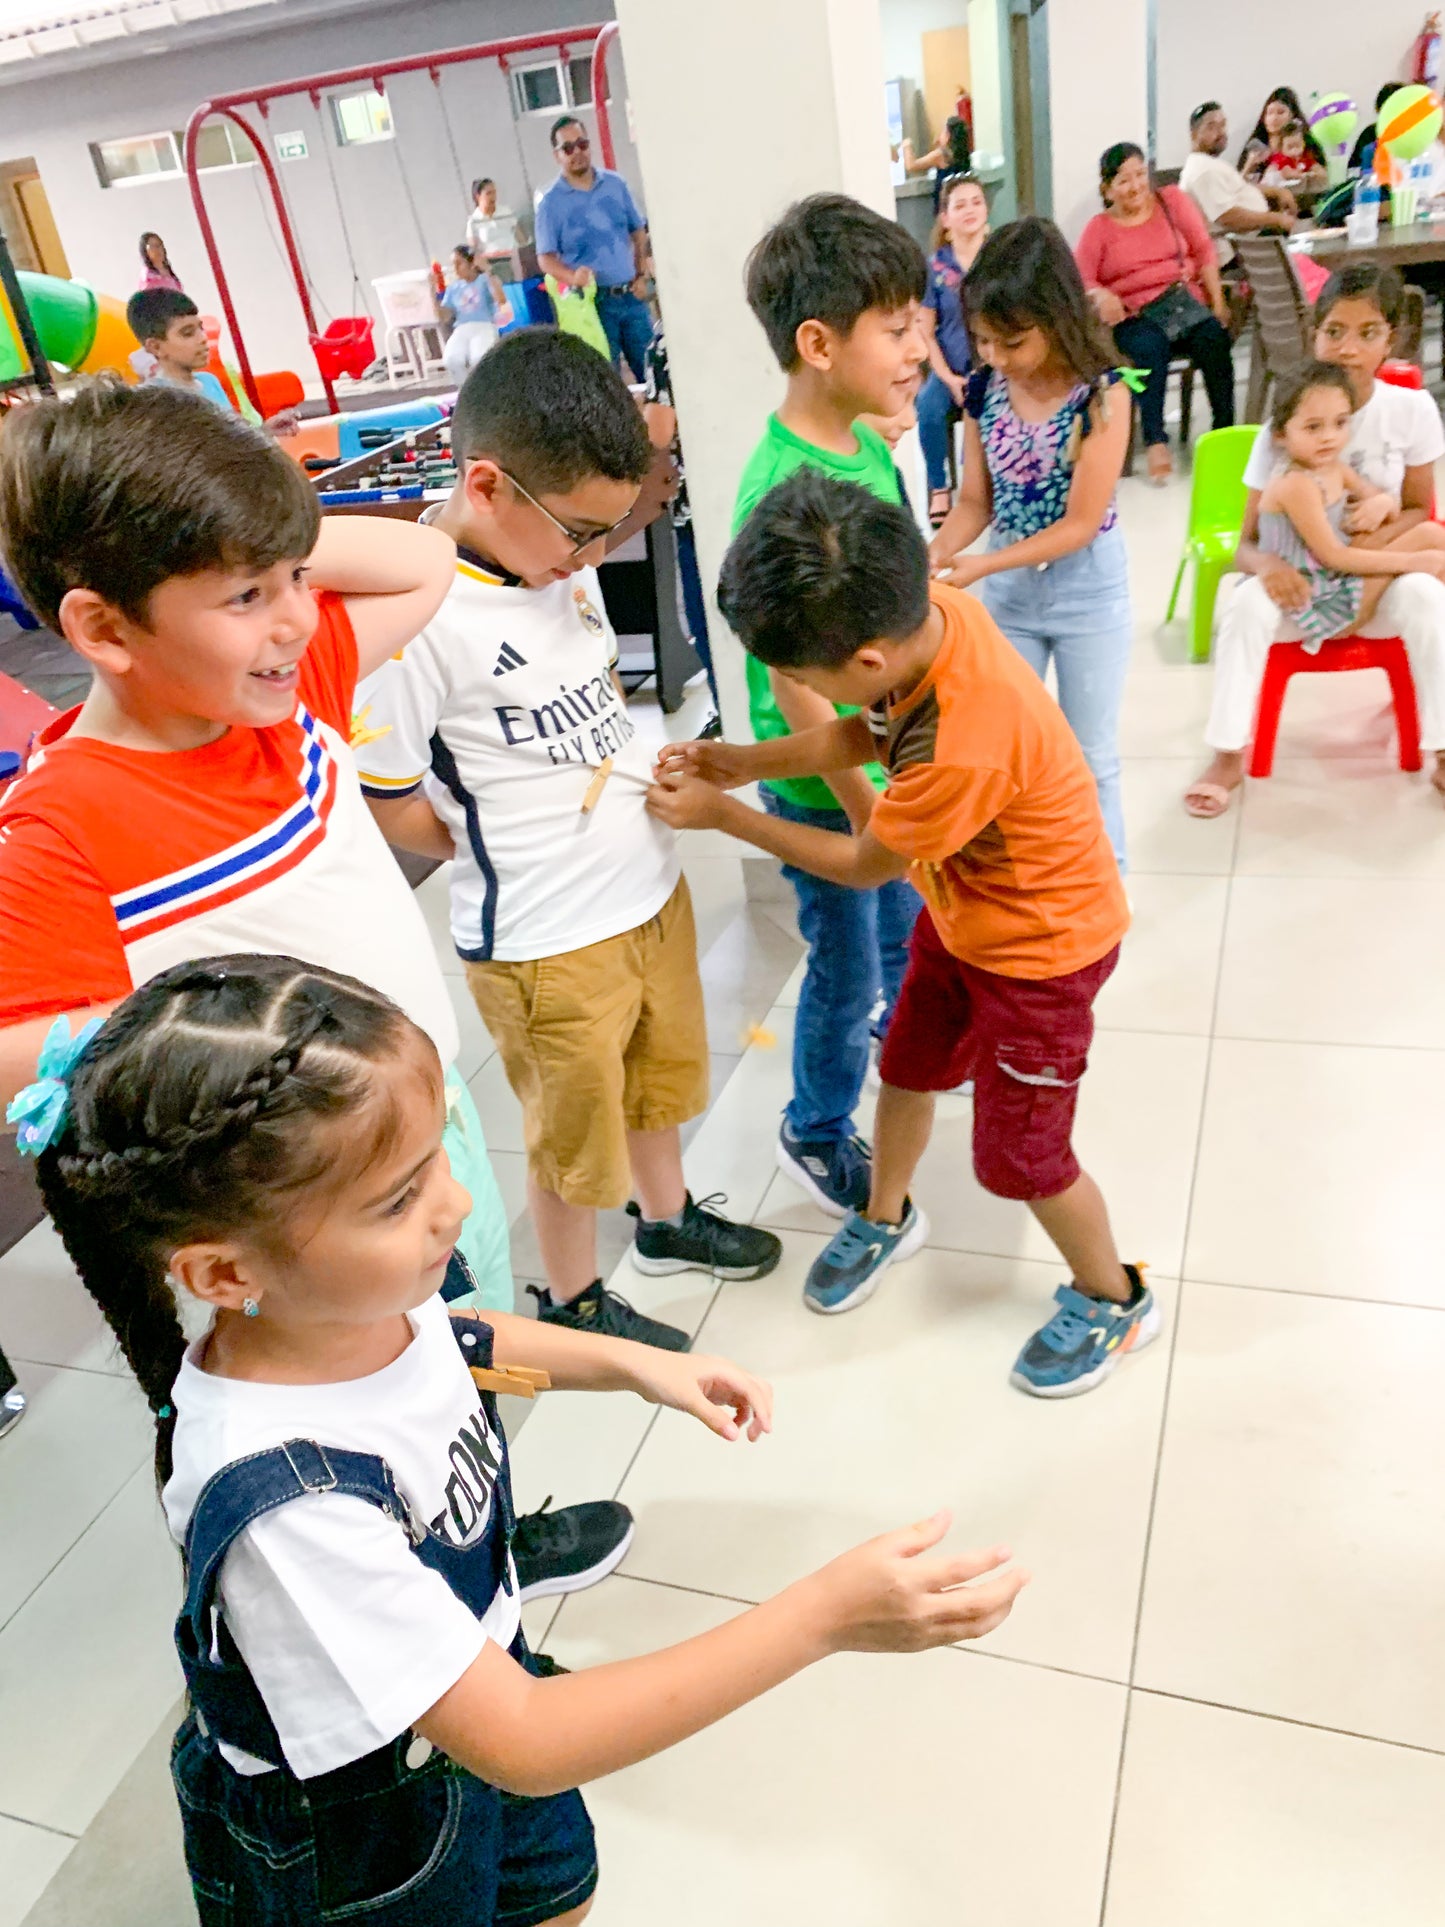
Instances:
[[[1119,869],[1127,869],[1119,798],[1119,703],[1135,620],[1123,530],[1116,522],[1094,536],[1087,549],[1075,549],[1044,568],[1008,568],[1004,574],[985,576],[977,592],[1025,663],[1046,676],[1052,659],[1060,709],[1094,773],[1104,829]]]

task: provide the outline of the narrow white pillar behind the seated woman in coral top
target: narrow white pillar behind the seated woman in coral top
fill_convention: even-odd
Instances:
[[[1177,4],[1183,12],[1185,0],[1158,4]],[[1241,15],[1245,13],[1241,0],[1229,0],[1229,6],[1239,6]],[[1262,0],[1262,6],[1283,12],[1283,0]],[[1100,0],[1048,0],[1054,220],[1069,241],[1079,237],[1090,214],[1098,214],[1098,156],[1104,148],[1114,141],[1144,145],[1146,12],[1146,0],[1108,0],[1108,10]],[[1216,40],[1220,15],[1220,6],[1200,8],[1200,21],[1208,21],[1208,33]],[[1295,29],[1299,31],[1297,13]]]

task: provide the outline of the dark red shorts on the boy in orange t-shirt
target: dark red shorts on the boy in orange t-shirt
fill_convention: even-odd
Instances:
[[[921,911],[879,1075],[900,1091],[952,1091],[973,1077],[973,1170],[985,1191],[1052,1199],[1079,1175],[1079,1079],[1094,998],[1117,962],[1116,944],[1067,977],[998,977],[944,950]]]

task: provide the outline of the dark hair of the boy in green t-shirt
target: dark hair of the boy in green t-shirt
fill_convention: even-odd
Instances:
[[[898,222],[848,195],[809,195],[751,251],[744,287],[778,366],[792,374],[803,322],[827,322],[846,337],[869,308],[923,301],[929,264]]]

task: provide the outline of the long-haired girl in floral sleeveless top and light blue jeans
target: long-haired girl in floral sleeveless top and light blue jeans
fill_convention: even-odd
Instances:
[[[1119,869],[1119,701],[1133,642],[1114,489],[1129,403],[1108,335],[1052,222],[1010,222],[965,283],[983,366],[965,395],[963,482],[933,541],[934,570],[979,584],[990,615],[1058,700],[1098,784]],[[983,553],[965,555],[988,532]]]

